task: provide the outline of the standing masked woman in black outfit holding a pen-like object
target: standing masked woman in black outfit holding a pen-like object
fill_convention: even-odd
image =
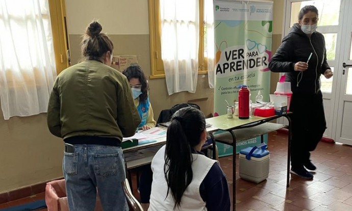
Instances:
[[[291,173],[305,179],[313,178],[307,171],[316,169],[310,161],[310,151],[316,148],[326,129],[320,75],[333,76],[326,62],[324,37],[316,32],[317,22],[316,7],[302,8],[298,23],[293,25],[269,63],[272,72],[285,72],[286,81],[291,83]]]

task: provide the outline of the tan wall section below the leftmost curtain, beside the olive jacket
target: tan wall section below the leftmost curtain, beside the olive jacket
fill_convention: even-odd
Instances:
[[[0,110],[0,117],[0,193],[62,177],[63,142],[45,114],[5,121]]]

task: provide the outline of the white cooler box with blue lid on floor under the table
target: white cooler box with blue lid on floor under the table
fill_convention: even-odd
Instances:
[[[244,180],[259,183],[268,178],[270,154],[265,143],[240,151],[239,173]]]

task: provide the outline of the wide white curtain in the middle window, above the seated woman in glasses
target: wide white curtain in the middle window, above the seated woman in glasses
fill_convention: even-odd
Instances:
[[[198,74],[198,0],[161,0],[161,51],[169,95],[195,92]]]

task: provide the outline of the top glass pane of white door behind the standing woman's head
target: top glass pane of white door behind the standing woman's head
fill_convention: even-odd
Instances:
[[[290,27],[298,22],[299,10],[307,5],[313,5],[318,9],[318,27],[339,24],[340,0],[315,0],[291,3]]]

